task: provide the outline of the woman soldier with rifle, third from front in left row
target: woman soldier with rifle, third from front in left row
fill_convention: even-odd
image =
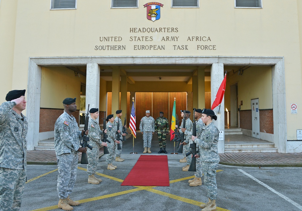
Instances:
[[[107,135],[108,135],[108,140],[111,143],[107,144],[109,154],[107,154],[106,157],[106,162],[108,164],[107,169],[108,170],[115,170],[117,166],[112,164],[112,161],[114,159],[115,155],[115,145],[116,143],[120,143],[120,141],[116,140],[116,132],[121,134],[121,131],[117,129],[117,126],[114,124],[114,118],[113,114],[108,115],[106,118],[107,124],[106,124],[106,129],[107,129]]]

